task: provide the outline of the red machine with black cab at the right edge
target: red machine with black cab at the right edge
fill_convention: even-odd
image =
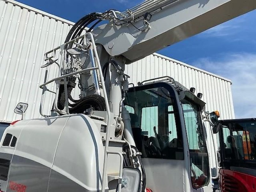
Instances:
[[[220,190],[256,191],[256,118],[220,120],[213,127],[219,134]]]

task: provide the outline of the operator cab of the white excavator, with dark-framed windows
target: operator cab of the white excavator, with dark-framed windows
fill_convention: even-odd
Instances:
[[[172,177],[170,185],[180,191],[183,175],[178,170],[184,168],[193,188],[208,185],[210,173],[201,118],[205,105],[202,100],[172,79],[129,88],[124,105],[130,113],[136,147],[142,153],[147,186],[152,184],[149,188],[154,191],[154,182],[161,182],[161,178],[172,174],[176,177]],[[189,165],[184,161],[186,148],[189,148]],[[161,165],[166,163],[173,167],[161,172]],[[148,177],[152,172],[163,175]],[[167,191],[162,187],[155,191]]]

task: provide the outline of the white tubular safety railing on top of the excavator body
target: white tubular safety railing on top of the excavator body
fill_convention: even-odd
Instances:
[[[82,38],[83,38],[83,44],[78,43],[78,40],[82,39]],[[89,51],[89,55],[90,55],[90,59],[91,59],[91,63],[92,63],[91,68],[86,68],[86,69],[82,69],[82,70],[79,70],[79,71],[76,71],[76,72],[73,72],[73,73],[68,73],[68,74],[61,75],[62,72],[65,71],[65,69],[66,69],[65,47],[69,44],[75,44],[76,46],[79,46],[79,47]],[[54,57],[55,57],[56,51],[59,50],[59,49],[60,49],[60,54],[61,54],[60,65],[57,63],[57,60],[53,60]],[[50,53],[52,54],[51,56],[49,56]],[[96,89],[97,94],[100,94],[99,82],[98,82],[98,79],[97,79],[98,75],[96,73],[97,71],[99,72],[102,91],[103,91],[104,100],[105,100],[105,104],[106,104],[106,111],[107,111],[107,115],[108,115],[106,140],[105,140],[105,152],[104,152],[104,164],[103,164],[103,176],[102,176],[102,192],[104,192],[105,188],[106,188],[108,153],[116,154],[116,152],[109,152],[108,151],[109,136],[110,136],[109,128],[110,128],[110,123],[111,123],[110,109],[109,109],[108,96],[107,96],[107,91],[106,91],[106,87],[105,87],[104,77],[103,77],[102,69],[101,69],[101,65],[100,65],[100,59],[99,59],[99,56],[98,56],[98,52],[97,52],[97,49],[96,49],[96,45],[95,45],[92,33],[86,33],[82,36],[79,36],[75,39],[72,39],[71,41],[50,50],[49,52],[46,52],[45,53],[45,61],[48,61],[48,63],[50,63],[50,64],[56,62],[60,67],[59,67],[58,77],[53,78],[50,81],[44,82],[44,84],[41,84],[39,86],[41,89],[43,89],[42,98],[41,98],[41,106],[40,106],[40,114],[42,116],[47,116],[47,115],[44,115],[43,112],[42,112],[42,105],[43,105],[43,102],[44,102],[44,93],[46,91],[52,92],[52,93],[55,94],[55,100],[54,100],[54,109],[55,109],[55,111],[59,112],[60,114],[68,114],[68,93],[67,93],[68,91],[67,91],[67,80],[66,80],[66,77],[68,77],[68,76],[81,74],[81,73],[84,73],[85,71],[93,71],[93,79],[94,79],[95,89]],[[46,64],[46,66],[47,66],[47,64]],[[45,81],[46,81],[46,79],[47,79],[47,76],[45,77]],[[58,108],[58,96],[59,96],[59,88],[60,88],[60,81],[61,80],[64,81],[64,93],[65,93],[65,108],[63,110],[60,110]],[[55,84],[56,84],[56,92],[51,91],[46,87],[46,85],[48,85],[52,82],[55,82]],[[118,154],[118,155],[120,155],[120,154]],[[120,156],[120,158],[122,158],[122,157]],[[122,170],[121,170],[121,165],[120,165],[120,174],[121,173],[122,173]],[[119,185],[119,188],[121,189],[121,185]]]

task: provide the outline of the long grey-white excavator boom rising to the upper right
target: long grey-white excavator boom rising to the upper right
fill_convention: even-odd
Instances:
[[[134,62],[254,9],[255,0],[148,0],[96,28],[95,42]]]

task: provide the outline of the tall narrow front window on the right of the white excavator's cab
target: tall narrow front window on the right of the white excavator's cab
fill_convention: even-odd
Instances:
[[[191,182],[193,188],[200,188],[209,182],[209,159],[203,134],[200,108],[189,100],[182,100],[190,152]]]

